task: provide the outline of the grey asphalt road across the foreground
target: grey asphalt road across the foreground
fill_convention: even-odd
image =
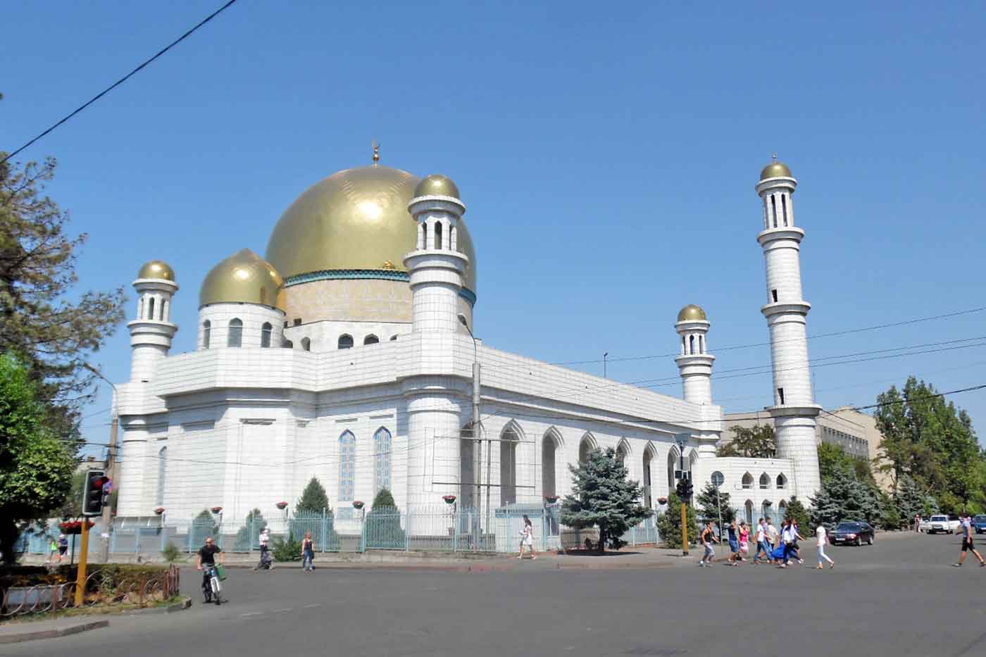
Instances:
[[[986,541],[983,541],[986,545]],[[834,570],[233,570],[229,604],[113,618],[10,655],[986,655],[986,568],[956,537],[830,547]],[[190,588],[194,572],[182,573]],[[191,576],[190,576],[191,575]],[[740,647],[741,646],[741,647]]]

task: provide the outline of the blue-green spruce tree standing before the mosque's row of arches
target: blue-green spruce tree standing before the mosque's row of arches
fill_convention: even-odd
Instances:
[[[598,527],[600,553],[607,545],[623,547],[620,537],[653,514],[641,506],[643,488],[627,478],[627,469],[613,448],[593,450],[586,463],[568,469],[572,493],[562,504],[561,522],[575,529]]]

